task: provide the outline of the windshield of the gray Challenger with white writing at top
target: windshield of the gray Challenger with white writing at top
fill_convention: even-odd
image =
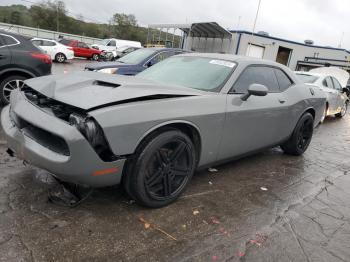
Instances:
[[[165,59],[138,74],[162,84],[219,91],[236,63],[212,58],[179,56]]]

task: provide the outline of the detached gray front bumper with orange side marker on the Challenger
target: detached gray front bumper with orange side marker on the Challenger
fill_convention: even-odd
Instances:
[[[42,141],[27,136],[15,124],[12,115],[63,138],[69,155],[57,153]],[[1,125],[8,147],[18,158],[48,170],[63,181],[92,187],[116,185],[121,181],[125,158],[102,161],[75,127],[31,104],[18,90],[11,95],[11,106],[1,113]]]

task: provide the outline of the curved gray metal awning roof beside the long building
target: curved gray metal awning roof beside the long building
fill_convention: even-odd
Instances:
[[[232,34],[216,22],[193,23],[191,27],[179,29],[190,37],[232,38]]]

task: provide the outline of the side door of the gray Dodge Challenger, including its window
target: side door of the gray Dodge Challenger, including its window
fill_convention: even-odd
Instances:
[[[252,84],[266,86],[268,94],[250,96],[247,101],[242,101],[241,96]],[[273,67],[248,66],[227,95],[226,120],[218,158],[243,155],[286,139],[292,130],[287,98],[279,88]]]

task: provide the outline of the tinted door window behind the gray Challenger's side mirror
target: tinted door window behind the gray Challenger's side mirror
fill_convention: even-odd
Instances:
[[[234,93],[247,93],[252,84],[264,85],[270,93],[280,92],[274,69],[265,66],[250,66],[246,68],[233,86]]]

